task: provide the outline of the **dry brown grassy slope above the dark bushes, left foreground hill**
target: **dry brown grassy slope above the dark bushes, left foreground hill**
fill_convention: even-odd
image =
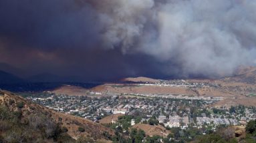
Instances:
[[[19,111],[22,123],[29,122],[30,120],[31,122],[40,120],[41,122],[49,121],[59,124],[61,128],[68,129],[66,133],[74,139],[80,136],[87,136],[94,140],[104,140],[104,132],[114,134],[113,130],[102,126],[102,124],[69,114],[55,112],[38,104],[33,104],[29,100],[11,92],[1,91],[0,105],[7,107],[11,112]]]

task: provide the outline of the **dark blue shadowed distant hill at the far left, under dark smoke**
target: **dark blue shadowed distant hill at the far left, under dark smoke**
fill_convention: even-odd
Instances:
[[[25,80],[15,76],[14,74],[0,71],[0,84],[16,84],[16,83],[23,83]]]

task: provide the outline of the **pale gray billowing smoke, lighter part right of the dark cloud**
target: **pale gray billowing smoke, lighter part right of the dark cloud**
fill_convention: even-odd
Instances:
[[[176,61],[184,74],[223,75],[255,62],[255,7],[246,0],[109,0],[99,19],[106,47]]]

